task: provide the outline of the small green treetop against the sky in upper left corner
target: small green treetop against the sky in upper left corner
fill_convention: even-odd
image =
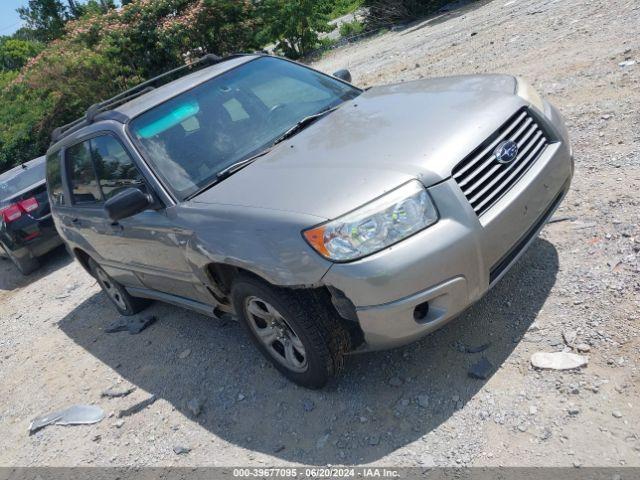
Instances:
[[[67,21],[67,10],[60,0],[29,0],[16,10],[35,40],[50,42],[60,38]]]

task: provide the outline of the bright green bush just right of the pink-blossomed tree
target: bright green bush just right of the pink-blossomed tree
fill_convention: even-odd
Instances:
[[[264,0],[260,16],[264,29],[259,39],[275,42],[290,58],[300,58],[320,45],[319,33],[330,32],[332,2],[327,0]]]

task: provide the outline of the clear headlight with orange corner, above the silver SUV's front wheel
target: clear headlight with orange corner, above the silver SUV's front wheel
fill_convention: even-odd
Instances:
[[[302,234],[323,257],[345,262],[382,250],[437,221],[431,197],[420,182],[412,180]]]

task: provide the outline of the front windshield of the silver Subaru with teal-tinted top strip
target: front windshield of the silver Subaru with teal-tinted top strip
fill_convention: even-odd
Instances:
[[[143,153],[184,199],[265,148],[306,116],[360,90],[295,63],[261,57],[136,117]]]

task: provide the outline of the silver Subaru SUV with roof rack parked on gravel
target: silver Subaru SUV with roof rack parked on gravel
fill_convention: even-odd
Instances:
[[[93,105],[47,157],[58,230],[120,313],[235,314],[311,388],[480,299],[573,175],[560,114],[522,79],[361,90],[266,55]]]

